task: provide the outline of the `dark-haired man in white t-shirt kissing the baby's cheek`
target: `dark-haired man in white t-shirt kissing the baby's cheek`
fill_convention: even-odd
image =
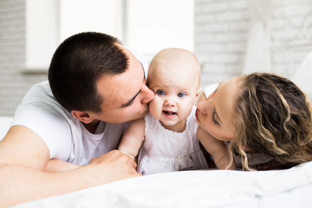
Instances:
[[[27,92],[0,142],[0,207],[140,176],[115,149],[154,99],[143,65],[107,34],[61,43],[49,81]]]

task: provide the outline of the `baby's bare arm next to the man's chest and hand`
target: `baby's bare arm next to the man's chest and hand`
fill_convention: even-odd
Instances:
[[[145,139],[145,120],[144,118],[131,121],[123,135],[118,150],[134,159]]]

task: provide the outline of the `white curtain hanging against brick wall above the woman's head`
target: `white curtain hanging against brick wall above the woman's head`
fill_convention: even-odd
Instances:
[[[283,0],[247,0],[250,20],[243,73],[271,72],[271,16]]]

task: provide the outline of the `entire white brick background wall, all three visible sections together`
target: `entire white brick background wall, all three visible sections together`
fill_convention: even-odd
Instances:
[[[284,0],[272,16],[272,71],[290,76],[312,49],[312,0]],[[201,86],[241,73],[247,0],[195,0],[195,55]],[[304,29],[303,29],[304,28]],[[25,73],[25,0],[0,0],[0,116],[12,116],[27,90],[47,79]]]

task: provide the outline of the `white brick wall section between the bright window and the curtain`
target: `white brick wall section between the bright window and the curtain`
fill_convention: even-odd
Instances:
[[[195,0],[195,55],[201,86],[239,74],[248,24],[246,0]]]

